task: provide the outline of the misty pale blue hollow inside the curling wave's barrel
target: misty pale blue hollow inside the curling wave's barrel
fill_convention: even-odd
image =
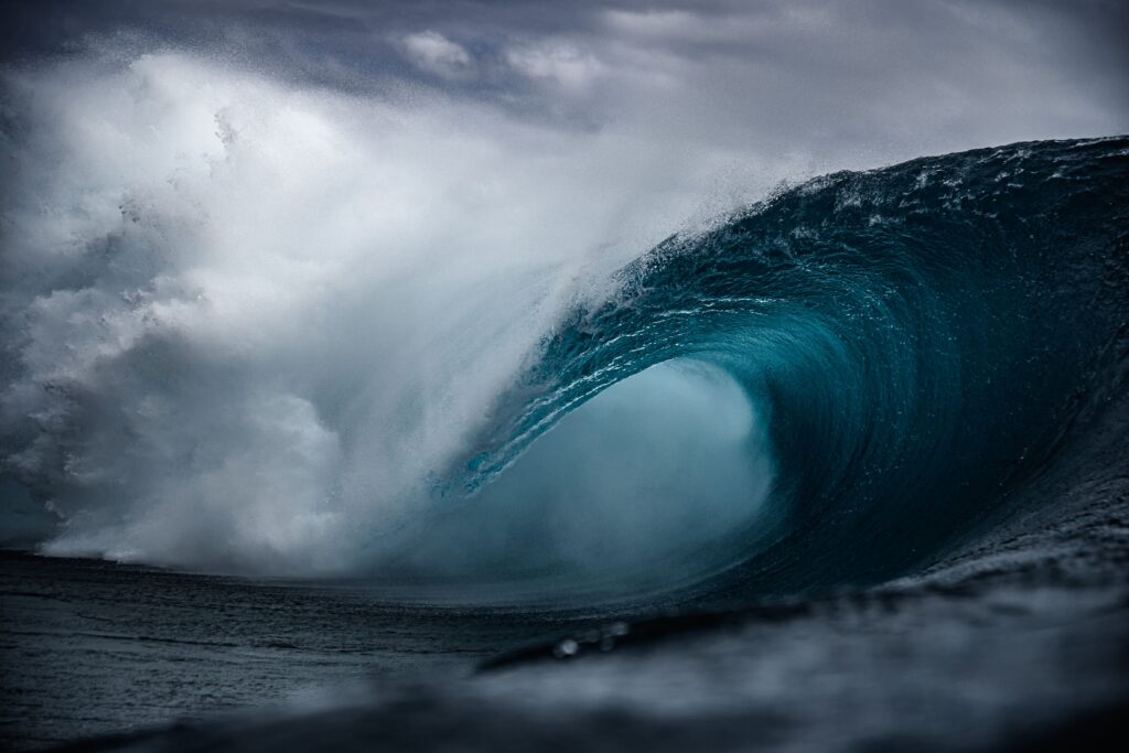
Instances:
[[[622,603],[691,585],[773,529],[763,426],[721,368],[651,366],[417,520],[379,570],[429,602]]]

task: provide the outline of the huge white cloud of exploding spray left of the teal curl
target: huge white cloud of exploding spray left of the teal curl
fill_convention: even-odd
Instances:
[[[371,561],[562,306],[701,193],[614,129],[185,54],[7,89],[3,447],[52,553]]]

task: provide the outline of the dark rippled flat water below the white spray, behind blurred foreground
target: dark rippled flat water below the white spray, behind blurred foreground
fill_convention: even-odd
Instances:
[[[350,682],[450,680],[583,615],[405,606],[287,584],[0,553],[0,747],[235,709],[331,702]],[[332,690],[332,693],[327,692]]]

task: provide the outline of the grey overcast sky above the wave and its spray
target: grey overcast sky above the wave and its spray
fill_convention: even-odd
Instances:
[[[795,154],[812,169],[1129,130],[1120,0],[5,3],[9,61],[186,47],[561,129]]]

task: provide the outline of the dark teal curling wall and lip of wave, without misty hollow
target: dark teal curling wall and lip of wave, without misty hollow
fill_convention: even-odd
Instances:
[[[692,596],[904,573],[1014,500],[1052,505],[1039,478],[1118,399],[1127,175],[1123,137],[1019,143],[830,175],[672,237],[545,338],[450,487],[616,382],[704,360],[768,418],[778,474],[772,536],[733,532]]]

